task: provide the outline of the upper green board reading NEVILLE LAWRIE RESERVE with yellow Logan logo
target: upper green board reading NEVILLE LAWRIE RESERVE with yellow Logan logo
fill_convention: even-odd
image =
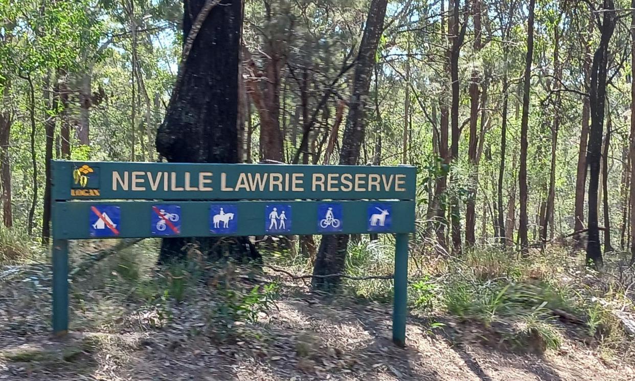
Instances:
[[[55,199],[415,198],[408,166],[55,161],[53,178]]]

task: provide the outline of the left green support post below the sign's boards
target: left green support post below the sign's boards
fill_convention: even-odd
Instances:
[[[69,241],[53,240],[53,333],[69,330]]]

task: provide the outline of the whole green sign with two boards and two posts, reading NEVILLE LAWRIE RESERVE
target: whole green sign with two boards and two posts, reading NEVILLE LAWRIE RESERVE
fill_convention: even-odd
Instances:
[[[404,345],[415,175],[411,166],[52,161],[53,331],[68,330],[69,239],[392,233],[392,336]]]

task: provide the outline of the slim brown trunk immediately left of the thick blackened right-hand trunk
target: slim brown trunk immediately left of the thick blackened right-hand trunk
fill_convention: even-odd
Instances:
[[[587,43],[584,44],[584,86],[589,93],[591,86],[591,41],[593,36],[594,15],[591,12],[587,27]],[[634,37],[635,38],[635,37]],[[635,59],[635,58],[634,58]],[[634,90],[635,91],[635,90]],[[579,232],[584,229],[584,190],[587,182],[587,140],[589,139],[589,118],[591,117],[591,104],[589,97],[582,98],[582,131],[580,131],[580,149],[578,150],[578,165],[575,177],[575,211],[573,231]],[[573,236],[575,246],[582,248],[583,236],[575,234]]]

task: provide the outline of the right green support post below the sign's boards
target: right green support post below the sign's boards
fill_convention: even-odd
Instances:
[[[392,341],[406,345],[406,306],[408,301],[408,233],[396,234]]]

